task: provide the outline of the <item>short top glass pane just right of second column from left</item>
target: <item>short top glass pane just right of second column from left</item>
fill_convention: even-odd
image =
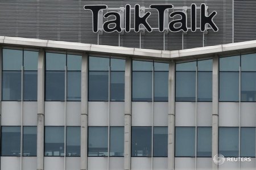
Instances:
[[[109,58],[89,57],[89,71],[109,71]]]

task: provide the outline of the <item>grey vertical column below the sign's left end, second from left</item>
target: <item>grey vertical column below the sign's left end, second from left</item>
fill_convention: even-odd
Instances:
[[[87,169],[88,139],[88,54],[82,54],[81,68],[81,170]]]

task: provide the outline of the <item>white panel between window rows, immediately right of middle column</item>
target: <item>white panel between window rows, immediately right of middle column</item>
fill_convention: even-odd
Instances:
[[[152,125],[152,102],[133,101],[131,104],[131,126]]]

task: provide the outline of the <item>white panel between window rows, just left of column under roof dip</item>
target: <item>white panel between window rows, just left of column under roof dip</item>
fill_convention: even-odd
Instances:
[[[168,102],[154,102],[154,126],[168,126]]]

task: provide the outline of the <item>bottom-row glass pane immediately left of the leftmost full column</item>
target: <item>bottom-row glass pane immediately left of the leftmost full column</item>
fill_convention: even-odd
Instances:
[[[36,126],[23,126],[23,156],[36,156]]]

